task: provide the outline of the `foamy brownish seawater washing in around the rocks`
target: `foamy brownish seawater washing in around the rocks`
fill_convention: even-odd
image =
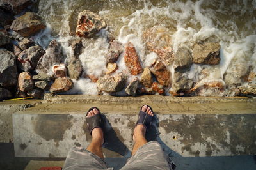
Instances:
[[[154,26],[164,29],[164,35],[170,37],[175,52],[182,46],[192,49],[195,43],[220,43],[220,64],[216,66],[193,64],[188,77],[194,82],[200,81],[200,71],[203,68],[211,70],[211,75],[205,81],[207,79],[223,81],[225,73],[236,72],[236,70],[228,70],[231,62],[236,62],[238,67],[239,63],[245,63],[246,68],[250,67],[256,72],[256,0],[41,0],[37,2],[36,10],[47,22],[47,29],[34,37],[36,42],[46,48],[55,38],[61,43],[67,56],[71,51],[70,41],[76,39],[79,12],[90,10],[99,13],[106,20],[108,27],[100,31],[97,38],[83,40],[85,48],[79,58],[83,63],[84,74],[93,74],[96,77],[104,74],[106,70],[104,56],[109,47],[108,34],[115,36],[122,43],[132,42],[140,56],[141,64],[149,66],[157,55],[149,52],[145,47],[143,33]],[[117,63],[119,68],[116,73],[123,72],[126,69],[123,55]],[[168,69],[173,74],[172,65]],[[131,79],[132,76],[127,84]],[[68,93],[97,94],[97,87],[82,75],[78,81],[74,80],[74,88]],[[117,95],[125,95],[125,93],[122,91]],[[212,93],[205,91],[201,95],[207,96]]]

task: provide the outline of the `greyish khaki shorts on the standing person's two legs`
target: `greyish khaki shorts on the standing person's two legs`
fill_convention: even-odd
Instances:
[[[63,169],[113,169],[90,151],[74,147],[69,151]],[[166,157],[157,141],[141,146],[135,155],[127,160],[122,170],[127,169],[175,169],[172,161]]]

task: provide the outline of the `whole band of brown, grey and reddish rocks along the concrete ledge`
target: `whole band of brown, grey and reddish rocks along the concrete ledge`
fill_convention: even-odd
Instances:
[[[195,43],[173,51],[171,36],[165,28],[154,26],[143,33],[148,51],[157,54],[150,66],[143,68],[134,44],[122,44],[110,34],[104,75],[86,74],[79,59],[83,40],[97,38],[101,29],[108,29],[106,21],[97,13],[84,10],[77,16],[76,39],[70,42],[71,54],[66,56],[57,40],[43,49],[31,38],[45,29],[46,24],[29,6],[35,1],[1,1],[0,4],[0,100],[6,98],[42,98],[44,93],[63,93],[73,87],[72,79],[89,78],[97,84],[99,95],[125,91],[132,97],[145,94],[173,96],[256,95],[256,74],[251,68],[230,70],[223,79],[211,79],[209,67],[220,64],[221,45],[216,42]],[[19,17],[17,17],[19,16]],[[159,35],[161,37],[159,38]],[[124,56],[126,70],[116,73],[120,56]],[[191,77],[191,66],[204,65],[199,78]],[[127,80],[131,79],[127,84]]]

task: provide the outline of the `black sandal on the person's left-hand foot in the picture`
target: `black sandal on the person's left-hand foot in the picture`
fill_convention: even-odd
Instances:
[[[97,107],[91,107],[88,111],[86,116],[88,115],[88,113],[90,111],[92,111],[93,109],[97,109],[99,111],[99,114],[95,114],[93,116],[90,117],[86,117],[86,123],[88,126],[88,130],[90,132],[90,134],[92,135],[92,130],[94,128],[102,128],[102,117],[101,117],[101,112],[100,109],[98,109]]]

